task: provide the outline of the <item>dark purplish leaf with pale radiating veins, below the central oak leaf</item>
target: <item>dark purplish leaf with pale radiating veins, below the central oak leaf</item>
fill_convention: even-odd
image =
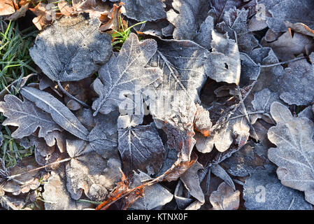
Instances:
[[[127,176],[138,169],[156,174],[164,162],[164,144],[150,125],[118,127],[118,149]]]

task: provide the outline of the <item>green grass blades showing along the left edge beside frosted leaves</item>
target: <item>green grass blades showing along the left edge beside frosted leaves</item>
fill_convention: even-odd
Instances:
[[[15,80],[37,72],[29,55],[29,48],[37,34],[34,27],[20,31],[17,22],[7,23],[0,18],[0,91]],[[16,91],[10,93],[17,94]],[[3,134],[0,157],[5,161],[6,167],[13,167],[18,160],[32,155],[34,147],[24,148],[17,144],[11,137],[11,130],[2,125],[3,120],[5,117],[0,113],[0,129]]]

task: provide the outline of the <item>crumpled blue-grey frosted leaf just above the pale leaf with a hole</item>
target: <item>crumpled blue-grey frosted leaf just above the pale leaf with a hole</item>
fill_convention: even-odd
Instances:
[[[248,10],[231,8],[224,13],[223,20],[216,29],[227,32],[230,38],[237,40],[241,52],[251,52],[257,46],[257,39],[248,30]]]

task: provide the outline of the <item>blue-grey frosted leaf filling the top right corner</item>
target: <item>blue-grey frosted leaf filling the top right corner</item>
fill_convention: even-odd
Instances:
[[[303,22],[305,25],[314,28],[314,3],[311,0],[284,0],[276,1],[277,4],[268,6],[265,2],[266,8],[271,13],[272,17],[267,17],[266,22],[269,28],[275,32],[287,31],[285,21],[288,22]]]

